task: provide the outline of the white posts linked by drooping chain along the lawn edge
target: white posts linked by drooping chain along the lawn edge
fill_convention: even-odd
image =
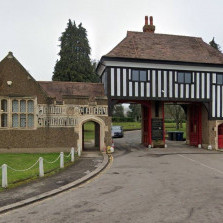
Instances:
[[[81,152],[82,152],[81,147],[78,146],[77,155],[79,157],[81,156]],[[75,160],[74,148],[73,147],[71,148],[71,151],[67,156],[65,156],[64,153],[61,152],[60,155],[54,161],[47,161],[47,160],[43,159],[42,157],[39,157],[39,159],[32,166],[30,166],[27,169],[23,169],[23,170],[17,170],[17,169],[14,169],[14,168],[8,166],[7,164],[3,164],[2,166],[0,166],[0,169],[2,169],[2,187],[3,188],[8,187],[8,169],[11,169],[15,172],[25,172],[25,171],[28,171],[28,170],[34,168],[39,163],[39,177],[44,177],[44,162],[48,163],[48,164],[53,164],[60,159],[60,168],[62,169],[62,168],[64,168],[64,157],[66,157],[66,158],[71,157],[71,162],[74,162],[74,160]]]

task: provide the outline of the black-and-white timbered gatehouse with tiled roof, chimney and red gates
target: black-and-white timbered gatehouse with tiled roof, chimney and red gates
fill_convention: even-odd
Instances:
[[[109,115],[117,103],[142,105],[142,143],[165,145],[164,104],[183,106],[187,143],[218,148],[223,119],[223,55],[201,38],[154,33],[145,18],[143,32],[127,36],[104,55],[97,72],[108,97]],[[210,147],[209,147],[210,148]]]

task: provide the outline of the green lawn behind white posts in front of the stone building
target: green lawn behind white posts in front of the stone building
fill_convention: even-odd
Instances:
[[[69,153],[64,154],[64,166],[68,166],[71,164],[70,162],[70,156],[69,158],[65,157]],[[0,155],[0,166],[2,164],[7,164],[9,167],[12,167],[16,170],[23,170],[31,167],[38,159],[39,157],[43,157],[45,161],[52,162],[56,160],[56,158],[59,156],[59,153],[21,153],[21,154],[15,154],[15,153],[6,153]],[[44,172],[45,174],[49,175],[52,173],[55,173],[60,170],[60,159],[58,159],[55,163],[49,164],[47,162],[43,162],[44,165]],[[23,182],[27,182],[31,179],[35,179],[39,175],[39,163],[35,165],[33,168],[31,168],[28,171],[14,171],[8,167],[8,184],[9,188],[17,186]],[[1,170],[1,169],[0,169]],[[2,179],[2,171],[0,171],[0,179]],[[0,187],[0,191],[3,190],[3,188]]]

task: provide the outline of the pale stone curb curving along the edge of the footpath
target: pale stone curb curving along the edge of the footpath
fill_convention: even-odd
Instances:
[[[108,164],[110,162],[109,156],[106,153],[102,153],[102,154],[103,154],[103,157],[104,157],[103,162],[101,163],[101,165],[99,167],[97,167],[94,171],[92,171],[88,175],[86,175],[86,176],[84,176],[84,177],[82,177],[78,180],[75,180],[72,183],[61,186],[57,189],[45,192],[43,194],[28,198],[28,199],[23,200],[23,201],[19,201],[19,202],[1,207],[0,208],[0,214],[3,214],[5,212],[11,211],[13,209],[20,208],[20,207],[26,206],[28,204],[32,204],[34,202],[41,201],[41,200],[44,200],[46,198],[52,197],[52,196],[57,195],[61,192],[64,192],[64,191],[67,191],[71,188],[77,187],[77,186],[85,183],[86,181],[92,179],[93,177],[97,176],[100,172],[102,172],[108,166]]]

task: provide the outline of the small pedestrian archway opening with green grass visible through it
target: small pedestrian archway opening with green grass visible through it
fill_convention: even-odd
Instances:
[[[83,150],[100,150],[100,125],[94,121],[88,121],[82,125]]]

